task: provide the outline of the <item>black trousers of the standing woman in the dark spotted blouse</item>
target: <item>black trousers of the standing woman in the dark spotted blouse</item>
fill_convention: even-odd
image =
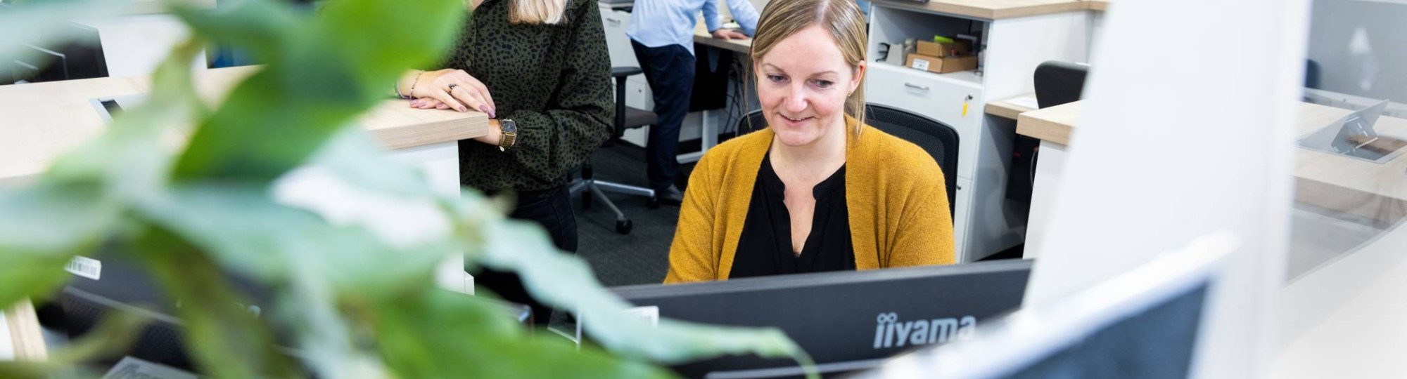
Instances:
[[[543,197],[519,197],[518,208],[508,216],[542,225],[559,250],[577,254],[577,218],[566,187]],[[474,274],[474,286],[492,291],[504,300],[532,306],[535,324],[546,326],[552,316],[552,307],[528,295],[518,274],[484,268]]]

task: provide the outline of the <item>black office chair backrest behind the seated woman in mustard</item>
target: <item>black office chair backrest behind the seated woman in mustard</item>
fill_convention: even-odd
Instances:
[[[948,216],[954,212],[958,180],[958,131],[947,124],[899,108],[865,104],[865,124],[892,136],[919,145],[943,170],[943,185],[948,192]],[[737,131],[750,133],[767,128],[763,111],[751,111],[737,122]]]

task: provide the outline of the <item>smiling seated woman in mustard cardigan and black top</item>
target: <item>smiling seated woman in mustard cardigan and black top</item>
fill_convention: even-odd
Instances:
[[[689,177],[664,282],[953,264],[938,164],[864,125],[853,0],[772,0],[753,39],[767,128]]]

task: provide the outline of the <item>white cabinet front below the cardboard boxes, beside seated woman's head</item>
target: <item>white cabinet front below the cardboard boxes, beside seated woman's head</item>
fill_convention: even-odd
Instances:
[[[934,74],[886,63],[865,73],[865,101],[916,112],[958,131],[958,178],[972,178],[982,128],[982,87],[971,72]]]

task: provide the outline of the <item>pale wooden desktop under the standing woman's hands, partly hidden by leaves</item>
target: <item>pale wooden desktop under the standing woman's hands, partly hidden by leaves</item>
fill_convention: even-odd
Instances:
[[[196,87],[207,104],[212,104],[259,69],[200,70]],[[0,128],[0,182],[42,173],[58,156],[101,133],[106,124],[89,100],[142,94],[149,88],[148,76],[0,86],[0,125],[4,126]],[[402,100],[387,100],[363,114],[362,125],[383,146],[404,149],[487,135],[488,115],[414,109]]]

